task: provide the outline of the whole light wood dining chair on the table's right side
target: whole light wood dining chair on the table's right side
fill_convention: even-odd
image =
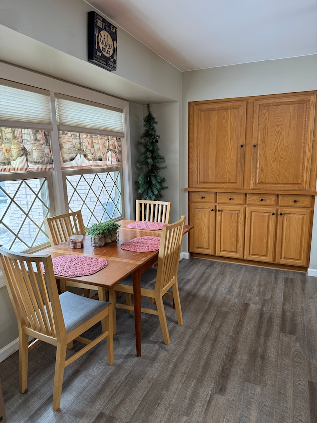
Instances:
[[[159,316],[160,326],[163,332],[165,344],[170,344],[170,338],[167,328],[167,321],[165,309],[163,304],[164,295],[173,298],[175,303],[175,310],[177,322],[179,325],[183,324],[182,310],[180,305],[177,273],[179,265],[179,257],[183,240],[183,232],[185,225],[185,216],[182,216],[179,221],[164,225],[161,233],[161,241],[159,247],[159,261],[155,278],[147,278],[147,272],[152,272],[154,269],[150,268],[141,275],[141,300],[146,297],[155,299],[156,309],[141,307],[141,312],[148,314],[155,314]],[[147,280],[144,283],[145,279]],[[168,292],[172,290],[172,292]],[[115,298],[116,292],[124,292],[128,295],[133,294],[133,280],[132,277],[123,279],[121,282],[109,289],[110,302],[113,304],[113,327],[116,333],[116,308],[123,308],[125,310],[133,311],[133,304],[117,303]]]

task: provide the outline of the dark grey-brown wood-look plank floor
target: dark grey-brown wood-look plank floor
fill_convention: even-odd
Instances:
[[[179,288],[183,326],[165,301],[171,344],[142,315],[137,358],[133,314],[117,310],[114,364],[104,342],[68,366],[58,412],[54,347],[30,352],[24,394],[18,353],[0,363],[8,423],[317,422],[316,278],[192,258]]]

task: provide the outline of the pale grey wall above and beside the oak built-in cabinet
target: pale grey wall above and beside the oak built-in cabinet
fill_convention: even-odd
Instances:
[[[182,178],[188,181],[188,102],[317,90],[317,55],[268,60],[184,72],[181,150]],[[186,185],[185,185],[186,186]],[[187,211],[187,193],[181,210]],[[317,210],[315,208],[315,213]],[[317,272],[317,217],[314,217],[310,270]]]

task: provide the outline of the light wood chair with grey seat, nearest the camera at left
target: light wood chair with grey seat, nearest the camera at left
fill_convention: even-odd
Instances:
[[[28,351],[41,341],[48,342],[56,347],[53,410],[58,410],[66,366],[105,338],[107,361],[113,363],[113,306],[68,291],[58,295],[48,254],[17,254],[0,248],[0,264],[19,328],[20,392],[27,389]],[[98,322],[101,335],[94,340],[80,336]],[[30,345],[29,336],[36,338]],[[67,344],[73,340],[85,346],[66,360]]]

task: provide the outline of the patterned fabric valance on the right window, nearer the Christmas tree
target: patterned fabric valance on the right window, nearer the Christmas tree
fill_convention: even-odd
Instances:
[[[121,138],[59,131],[62,169],[122,166]]]

